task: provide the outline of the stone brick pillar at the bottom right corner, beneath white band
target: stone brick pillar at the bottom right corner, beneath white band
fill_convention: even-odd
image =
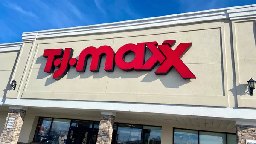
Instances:
[[[253,123],[236,121],[237,144],[246,144],[246,140],[256,141],[256,121]]]

